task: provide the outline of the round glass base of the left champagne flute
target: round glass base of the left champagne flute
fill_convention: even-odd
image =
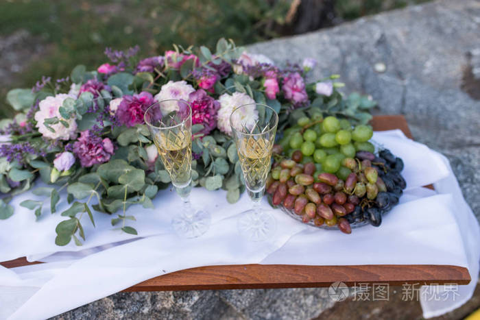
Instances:
[[[173,230],[182,238],[197,238],[210,227],[212,217],[210,212],[197,210],[192,215],[179,214],[171,220]]]

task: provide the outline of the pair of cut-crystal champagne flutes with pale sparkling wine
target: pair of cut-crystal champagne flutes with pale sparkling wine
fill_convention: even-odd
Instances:
[[[211,214],[195,210],[189,201],[192,188],[191,106],[183,100],[158,101],[145,112],[145,123],[183,201],[182,210],[171,221],[173,230],[184,238],[201,236],[211,225]],[[260,201],[270,170],[277,125],[275,110],[260,103],[239,106],[230,115],[245,188],[253,204],[252,209],[240,214],[237,227],[250,241],[265,241],[276,231],[276,220],[271,212],[260,209]]]

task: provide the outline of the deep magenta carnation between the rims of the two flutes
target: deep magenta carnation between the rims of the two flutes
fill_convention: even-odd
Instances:
[[[205,90],[198,89],[189,95],[189,102],[192,108],[192,124],[204,125],[199,133],[209,134],[217,126],[217,110],[220,103],[206,94]]]

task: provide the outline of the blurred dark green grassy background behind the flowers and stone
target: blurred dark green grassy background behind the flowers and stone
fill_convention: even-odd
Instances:
[[[42,75],[70,74],[76,64],[106,62],[105,47],[141,47],[141,56],[171,44],[237,45],[301,34],[359,16],[426,0],[2,0],[0,118],[11,88],[31,88]]]

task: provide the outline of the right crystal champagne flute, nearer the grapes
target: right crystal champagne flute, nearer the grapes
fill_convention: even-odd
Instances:
[[[275,218],[260,210],[260,201],[270,171],[277,125],[278,114],[261,103],[239,106],[230,115],[245,186],[253,202],[253,208],[241,214],[237,226],[240,234],[251,241],[265,241],[276,231]]]

